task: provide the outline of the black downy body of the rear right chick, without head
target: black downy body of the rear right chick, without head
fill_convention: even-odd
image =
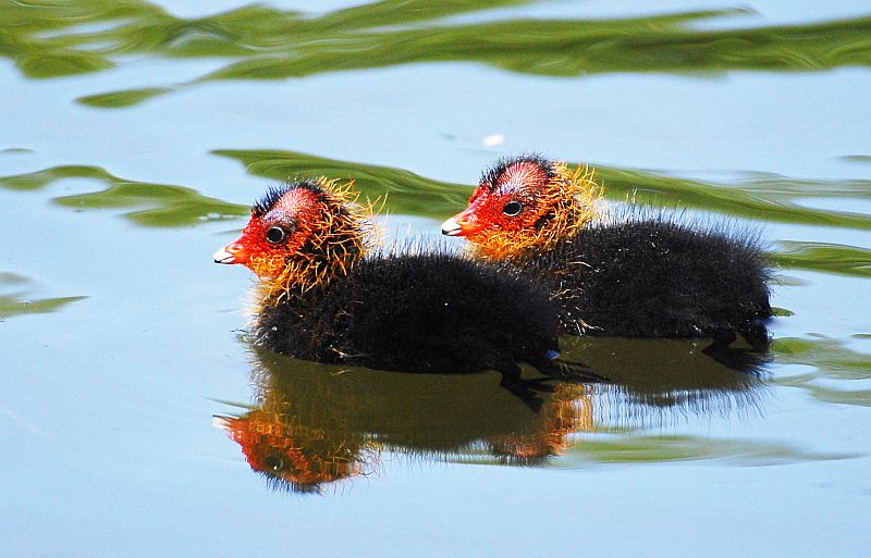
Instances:
[[[523,266],[553,282],[567,333],[768,343],[770,272],[757,243],[737,234],[630,218],[590,224]]]

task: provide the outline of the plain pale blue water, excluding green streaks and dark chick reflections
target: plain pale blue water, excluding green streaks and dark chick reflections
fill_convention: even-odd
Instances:
[[[243,5],[157,3],[184,16]],[[756,15],[717,25],[870,11],[859,1],[749,5]],[[728,7],[553,1],[457,21]],[[525,150],[726,183],[748,172],[871,178],[871,164],[846,159],[871,156],[868,67],[555,78],[440,62],[209,82],[119,110],[74,102],[186,83],[223,64],[122,55],[112,70],[30,79],[0,59],[0,175],[94,165],[243,204],[270,182],[212,150],[299,151],[467,185],[501,154]],[[492,139],[499,136],[504,140]],[[85,178],[32,191],[0,188],[0,272],[19,277],[0,282],[0,296],[24,309],[0,314],[0,556],[867,553],[867,276],[778,271],[772,302],[790,315],[772,324],[775,342],[823,339],[834,348],[775,351],[749,404],[726,394],[699,406],[639,408],[618,392],[594,393],[594,426],[578,430],[563,456],[540,467],[387,447],[373,474],[294,495],[271,491],[212,425],[212,416],[241,414],[238,405],[256,395],[253,357],[240,337],[252,280],[211,261],[244,218],[145,227],[124,216],[131,209],[53,202],[103,188]],[[868,199],[858,196],[808,207],[871,219]],[[439,222],[391,213],[388,226],[437,235]],[[871,249],[867,231],[753,224],[775,248],[802,240]],[[28,301],[63,297],[84,298],[50,313],[26,311]],[[844,365],[850,359],[855,365]],[[498,377],[480,380],[490,381]],[[443,404],[446,416],[456,405]],[[439,413],[428,412],[439,423]]]

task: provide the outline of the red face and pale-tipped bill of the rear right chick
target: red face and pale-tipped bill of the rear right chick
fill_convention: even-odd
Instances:
[[[493,176],[486,176],[469,198],[469,206],[442,224],[447,236],[486,236],[488,232],[533,230],[550,208],[540,194],[551,172],[537,160],[517,160]]]

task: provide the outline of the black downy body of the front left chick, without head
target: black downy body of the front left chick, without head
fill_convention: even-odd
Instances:
[[[373,256],[347,275],[267,301],[254,334],[284,355],[425,373],[545,365],[557,310],[530,277],[446,253]]]

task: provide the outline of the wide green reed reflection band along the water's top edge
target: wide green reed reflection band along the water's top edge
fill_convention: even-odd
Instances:
[[[0,10],[0,55],[14,60],[33,78],[107,70],[127,54],[230,59],[187,85],[447,61],[550,76],[871,65],[871,16],[726,29],[694,24],[740,10],[616,20],[486,20],[489,10],[529,3],[533,2],[383,0],[314,17],[252,4],[182,18],[137,0],[42,0]],[[468,12],[480,12],[483,21],[445,21]],[[111,91],[79,101],[119,108],[174,87]]]

